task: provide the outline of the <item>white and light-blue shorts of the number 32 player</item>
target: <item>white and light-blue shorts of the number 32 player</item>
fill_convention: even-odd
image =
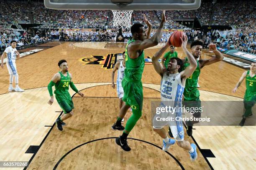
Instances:
[[[169,118],[172,120],[170,121],[161,121],[160,118]],[[154,116],[153,120],[153,128],[154,129],[162,129],[164,126],[169,126],[172,135],[175,140],[177,141],[183,141],[184,140],[184,130],[183,130],[183,124],[182,124],[182,112],[175,112],[174,114],[171,114],[169,112],[162,112],[160,114],[156,114]]]

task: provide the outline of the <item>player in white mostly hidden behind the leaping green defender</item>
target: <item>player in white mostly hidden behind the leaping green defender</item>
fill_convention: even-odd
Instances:
[[[123,80],[124,70],[125,70],[125,51],[123,52],[123,61],[117,62],[112,71],[112,87],[113,88],[115,88],[114,77],[115,77],[116,70],[118,70],[116,86],[117,86],[117,93],[119,97],[119,109],[121,109],[121,107],[124,105],[124,102],[122,100],[123,94],[124,94],[123,87],[122,87],[122,80]]]

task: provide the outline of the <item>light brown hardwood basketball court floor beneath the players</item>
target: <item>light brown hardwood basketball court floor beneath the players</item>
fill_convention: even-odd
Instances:
[[[121,132],[110,130],[118,113],[116,91],[110,87],[112,70],[102,68],[102,65],[84,65],[80,60],[92,55],[106,56],[123,52],[123,49],[106,49],[106,45],[68,42],[17,60],[20,87],[30,89],[23,93],[7,93],[8,71],[6,66],[1,70],[0,78],[3,81],[0,82],[0,99],[5,103],[1,110],[1,160],[32,160],[28,169],[53,169],[65,154],[81,145],[63,157],[57,169],[165,170],[181,169],[182,165],[186,170],[204,170],[210,169],[207,161],[217,170],[255,169],[255,146],[250,142],[255,141],[255,126],[195,127],[193,137],[200,149],[210,149],[216,157],[205,159],[198,151],[199,157],[195,163],[190,163],[188,153],[177,145],[170,148],[169,153],[178,161],[158,148],[161,147],[161,138],[151,127],[151,101],[160,100],[160,76],[154,71],[153,65],[145,65],[144,68],[143,115],[130,135],[130,138],[138,140],[128,140],[133,149],[130,153],[117,148],[113,137]],[[115,48],[115,44],[108,44],[108,47]],[[157,50],[145,50],[145,55],[152,57]],[[184,57],[180,48],[177,51],[180,57]],[[207,55],[212,53],[204,51],[203,58],[209,58]],[[79,90],[84,89],[82,92],[85,94],[83,98],[77,95],[73,97],[75,115],[65,121],[67,126],[63,132],[59,132],[56,126],[45,127],[53,125],[61,111],[56,100],[52,106],[47,105],[49,94],[46,87],[59,70],[57,62],[61,59],[67,59],[74,83]],[[242,100],[244,82],[237,94],[230,92],[243,71],[226,62],[203,68],[199,81],[201,100]],[[70,93],[74,94],[72,90]],[[127,114],[129,117],[131,112]],[[97,140],[101,138],[108,139]],[[185,139],[194,143],[187,135]],[[92,140],[97,141],[88,143]],[[83,145],[84,143],[87,144]],[[25,153],[30,145],[40,146],[36,154]]]

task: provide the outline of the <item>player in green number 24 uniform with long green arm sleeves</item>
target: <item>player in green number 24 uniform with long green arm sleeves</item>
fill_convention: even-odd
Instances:
[[[55,86],[55,98],[57,102],[59,103],[59,106],[63,110],[64,114],[62,114],[57,120],[56,125],[59,130],[63,130],[62,125],[64,124],[63,120],[68,119],[71,117],[74,112],[72,109],[74,109],[74,104],[72,101],[72,98],[69,94],[69,85],[77,92],[80,96],[84,96],[82,92],[79,92],[76,88],[76,86],[73,83],[72,75],[68,72],[68,65],[66,60],[60,60],[59,68],[61,69],[59,72],[57,72],[54,77],[52,77],[51,82],[48,85],[48,91],[51,96],[51,99],[49,100],[48,104],[51,105],[54,102],[54,97],[52,94],[52,86]],[[64,124],[65,125],[65,124]]]

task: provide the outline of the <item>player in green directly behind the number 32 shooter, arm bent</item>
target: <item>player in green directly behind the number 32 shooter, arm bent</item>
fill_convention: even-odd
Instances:
[[[191,53],[197,60],[202,55],[202,47],[203,47],[203,42],[200,40],[195,40],[191,43],[190,48],[191,48]],[[198,77],[200,75],[201,69],[205,67],[206,65],[211,65],[215,62],[223,60],[224,56],[217,50],[217,47],[215,44],[210,44],[209,45],[209,50],[213,51],[215,56],[210,58],[210,59],[205,59],[205,60],[197,60],[197,68],[193,72],[193,74],[187,78],[186,80],[186,85],[184,89],[184,105],[186,107],[201,107],[201,101],[200,101],[200,93],[199,90],[197,89],[197,82],[198,82]],[[184,70],[186,67],[189,66],[189,61],[187,60],[187,57],[183,60],[184,65],[183,69]],[[200,110],[200,109],[199,109]],[[201,117],[201,112],[195,112],[193,114],[193,117]],[[198,121],[187,121],[187,135],[191,136],[192,135],[192,126],[198,123]],[[169,129],[169,135],[172,136],[172,132]]]

